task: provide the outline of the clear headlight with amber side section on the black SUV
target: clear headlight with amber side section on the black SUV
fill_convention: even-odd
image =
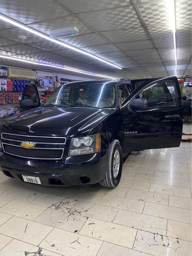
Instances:
[[[101,149],[100,134],[72,138],[69,146],[69,156],[97,153]]]

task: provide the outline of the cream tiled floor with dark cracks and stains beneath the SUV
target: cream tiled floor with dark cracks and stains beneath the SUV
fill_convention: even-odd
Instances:
[[[0,256],[191,256],[190,154],[190,141],[133,151],[115,189],[0,174]]]

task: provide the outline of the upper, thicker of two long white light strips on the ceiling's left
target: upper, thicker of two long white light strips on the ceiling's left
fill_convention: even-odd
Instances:
[[[11,18],[8,18],[7,16],[5,16],[5,15],[3,15],[3,14],[0,14],[0,19],[2,19],[3,21],[6,21],[6,22],[8,22],[8,23],[10,23],[10,24],[12,24],[12,25],[14,25],[14,26],[17,26],[17,27],[20,27],[20,28],[22,28],[22,29],[24,29],[24,30],[27,30],[27,31],[29,31],[30,33],[33,33],[33,34],[35,34],[35,35],[37,35],[37,36],[39,36],[39,37],[45,38],[46,40],[49,40],[49,41],[51,41],[51,42],[54,42],[55,44],[59,44],[59,45],[65,46],[65,47],[70,48],[70,49],[72,49],[72,50],[74,50],[74,51],[76,51],[76,52],[79,52],[79,53],[88,55],[88,56],[90,56],[90,57],[92,57],[92,58],[95,58],[95,59],[97,59],[97,60],[99,60],[99,61],[102,61],[102,62],[104,62],[104,63],[106,63],[106,64],[109,64],[109,65],[111,65],[111,66],[114,66],[115,68],[122,69],[121,67],[119,67],[119,66],[117,66],[117,65],[115,65],[115,64],[113,64],[113,63],[111,63],[111,62],[109,62],[109,61],[103,60],[102,58],[99,58],[99,57],[95,56],[94,54],[85,52],[85,51],[83,51],[83,50],[81,50],[81,49],[78,49],[78,48],[76,48],[76,47],[74,47],[74,46],[68,45],[68,44],[66,44],[66,43],[64,43],[64,42],[62,42],[62,41],[59,41],[59,40],[54,39],[54,38],[51,38],[50,36],[48,36],[48,35],[46,35],[46,34],[44,34],[44,33],[42,33],[42,32],[39,32],[39,31],[37,31],[37,30],[35,30],[35,29],[31,28],[31,27],[28,27],[28,26],[26,26],[26,25],[24,25],[24,24],[22,24],[22,23],[20,23],[20,22],[18,22],[18,21],[15,21],[15,20],[13,20],[13,19],[11,19]]]

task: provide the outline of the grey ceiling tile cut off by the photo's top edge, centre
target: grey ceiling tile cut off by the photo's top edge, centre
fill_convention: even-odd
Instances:
[[[65,5],[69,10],[73,11],[73,13],[104,10],[132,4],[131,0],[60,0],[59,2]]]

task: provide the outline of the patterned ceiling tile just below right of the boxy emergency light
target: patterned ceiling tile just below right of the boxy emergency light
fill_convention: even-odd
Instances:
[[[97,33],[90,33],[90,34],[85,34],[85,35],[80,35],[80,36],[67,37],[67,38],[63,38],[60,40],[67,44],[73,45],[77,48],[110,43],[107,39],[103,38],[101,35],[99,35]]]

